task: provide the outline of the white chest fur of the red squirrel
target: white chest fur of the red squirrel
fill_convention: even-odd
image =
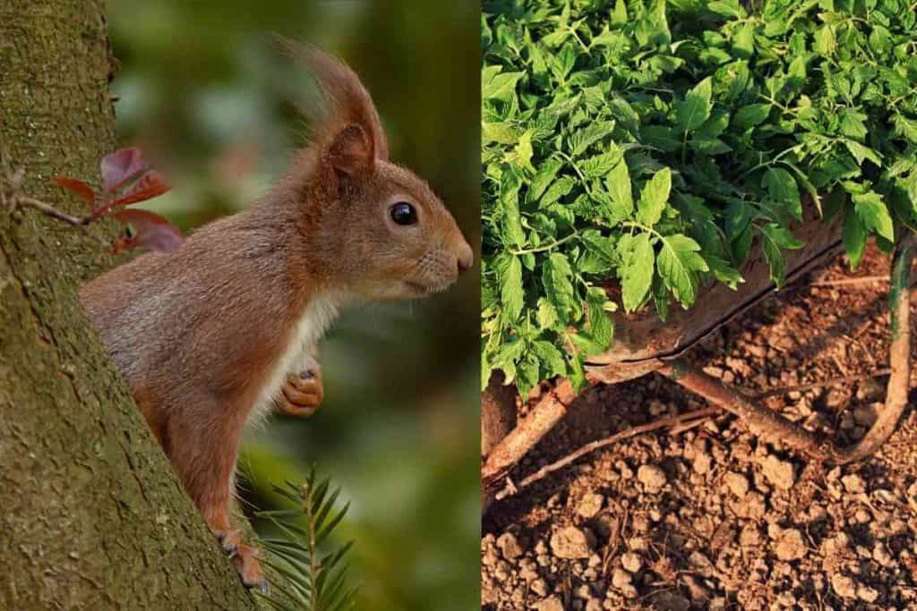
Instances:
[[[335,318],[337,318],[337,300],[333,297],[319,296],[309,301],[293,327],[286,346],[271,366],[271,372],[265,378],[255,405],[249,414],[249,421],[260,420],[267,414],[287,374],[298,373],[306,366],[311,366],[309,364],[312,359],[310,353]]]

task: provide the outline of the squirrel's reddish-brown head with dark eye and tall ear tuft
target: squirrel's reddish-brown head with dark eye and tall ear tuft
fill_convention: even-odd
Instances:
[[[286,43],[326,94],[291,180],[300,233],[328,280],[362,298],[414,299],[446,289],[473,261],[436,194],[392,163],[369,93],[340,60]]]

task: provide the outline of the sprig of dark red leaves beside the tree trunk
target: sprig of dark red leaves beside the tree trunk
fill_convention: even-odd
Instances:
[[[106,155],[102,158],[101,170],[102,191],[94,191],[83,180],[55,176],[54,181],[83,199],[89,205],[90,212],[82,217],[62,213],[52,216],[79,225],[90,224],[103,216],[129,224],[134,232],[131,234],[126,231],[117,237],[112,245],[115,253],[133,248],[171,252],[182,244],[182,232],[160,214],[146,210],[127,210],[127,206],[133,203],[146,202],[171,189],[168,180],[160,172],[149,169],[139,148],[119,148]]]

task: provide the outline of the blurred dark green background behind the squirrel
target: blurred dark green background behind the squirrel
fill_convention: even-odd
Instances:
[[[271,49],[277,32],[348,60],[392,159],[429,180],[478,251],[479,20],[473,0],[112,0],[119,134],[174,186],[150,207],[191,231],[285,169],[311,81]],[[247,436],[246,506],[282,507],[271,483],[311,464],[343,486],[358,608],[480,606],[478,277],[346,313],[320,347],[322,409]]]

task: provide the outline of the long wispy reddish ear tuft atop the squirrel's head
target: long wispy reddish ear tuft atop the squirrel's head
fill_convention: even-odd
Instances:
[[[325,116],[312,115],[311,125],[314,138],[326,151],[337,146],[337,140],[344,137],[350,142],[343,142],[349,148],[359,143],[357,127],[362,132],[372,158],[388,159],[389,145],[382,131],[379,114],[372,104],[370,93],[366,91],[359,77],[343,61],[332,55],[315,49],[310,45],[294,42],[288,38],[277,38],[281,49],[295,60],[302,61],[315,74],[315,79],[325,93],[328,102]],[[349,130],[349,131],[348,131]]]

